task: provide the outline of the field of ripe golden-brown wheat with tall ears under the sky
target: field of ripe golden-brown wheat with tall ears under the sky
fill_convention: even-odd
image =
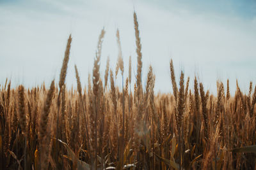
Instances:
[[[134,31],[135,77],[131,57],[129,76],[124,77],[118,30],[115,71],[108,59],[100,77],[102,29],[86,87],[81,87],[76,66],[77,88],[65,85],[71,35],[59,82],[12,89],[6,79],[0,87],[0,169],[256,169],[256,86],[248,83],[244,94],[237,82],[236,93],[230,94],[228,80],[217,81],[214,96],[196,76],[184,80],[182,71],[175,73],[170,60],[171,81],[166,85],[173,91],[156,94],[151,66],[147,82],[141,81],[135,12]],[[115,84],[119,71],[122,87]]]

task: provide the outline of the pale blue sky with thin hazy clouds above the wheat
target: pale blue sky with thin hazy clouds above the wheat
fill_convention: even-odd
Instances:
[[[247,0],[0,0],[0,84],[35,87],[58,82],[69,34],[72,45],[66,83],[76,87],[74,64],[83,86],[88,85],[100,31],[100,73],[106,60],[115,70],[116,29],[120,30],[124,76],[132,59],[132,83],[136,75],[134,10],[138,16],[145,86],[148,67],[156,74],[156,92],[172,92],[170,60],[177,82],[198,76],[205,89],[216,94],[216,80],[227,78],[234,94],[236,80],[243,92],[256,83],[256,1]],[[115,72],[115,71],[114,71]],[[122,76],[116,84],[122,86]],[[133,87],[133,86],[132,86]]]

